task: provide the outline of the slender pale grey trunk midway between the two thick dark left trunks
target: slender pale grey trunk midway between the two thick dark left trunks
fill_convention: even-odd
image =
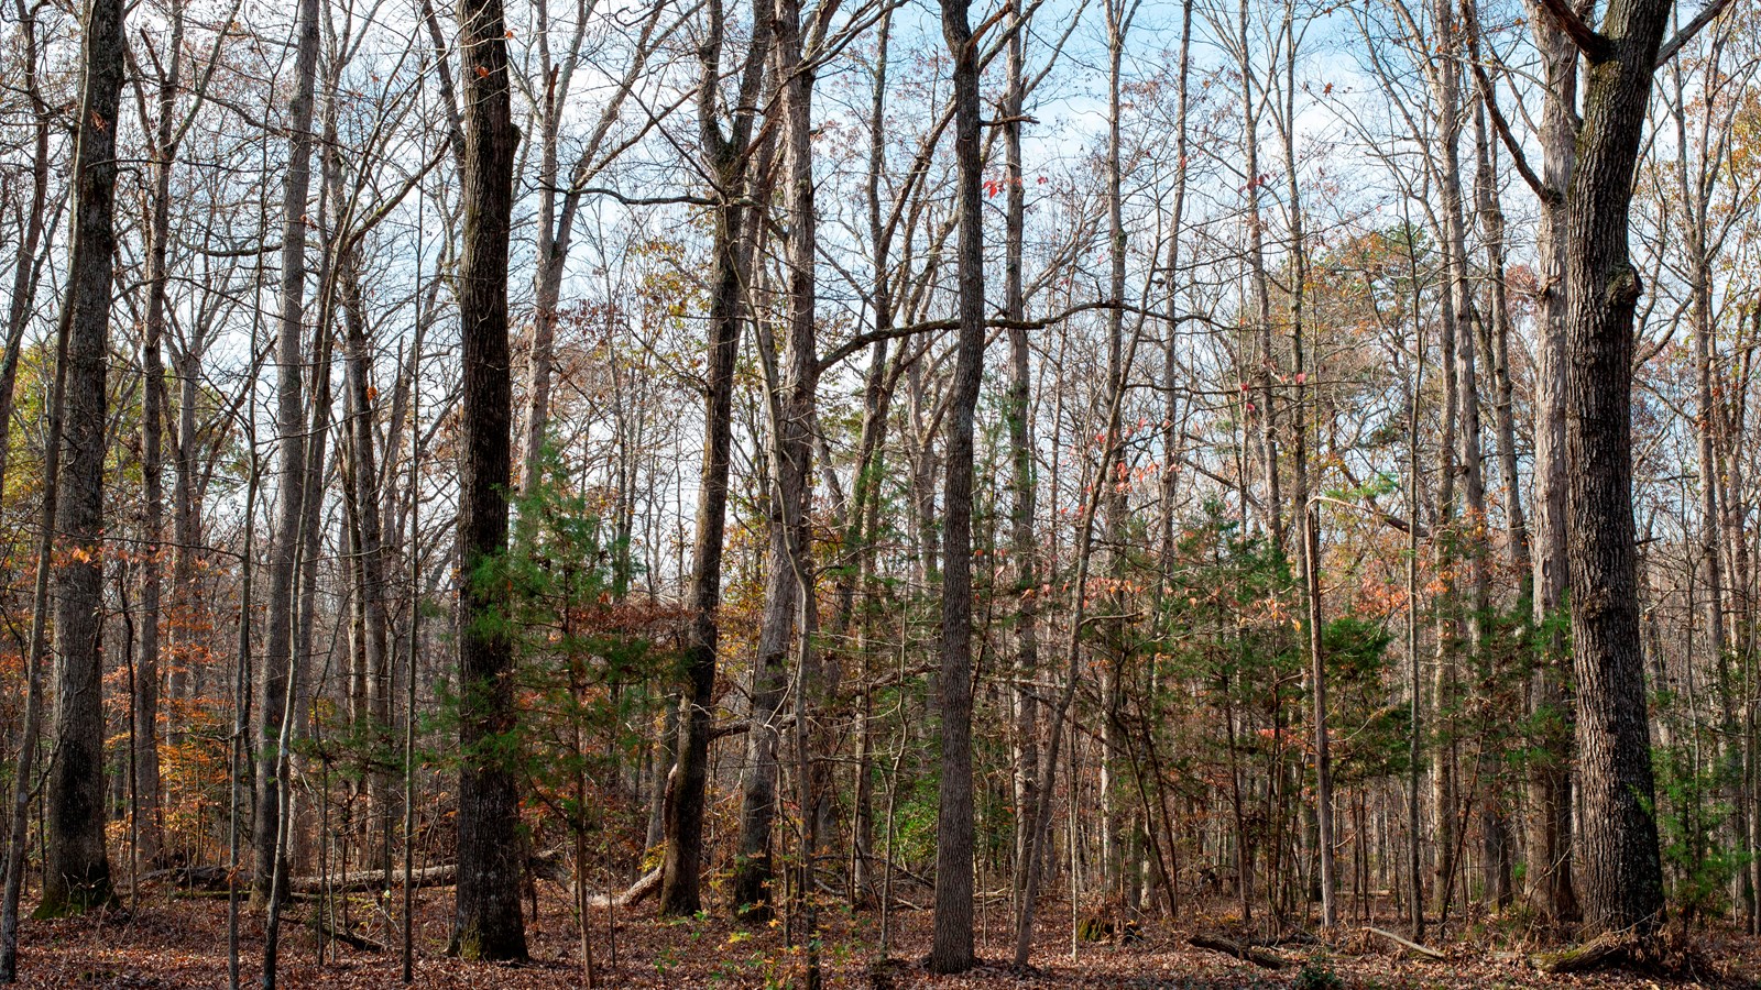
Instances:
[[[312,102],[319,63],[319,0],[301,0],[294,55],[294,95],[287,107],[289,162],[282,196],[282,314],[275,345],[275,432],[280,451],[280,497],[269,557],[269,631],[264,638],[257,701],[257,814],[252,846],[257,868],[252,900],[264,904],[276,875],[276,835],[282,821],[278,740],[292,676],[294,564],[299,557],[301,497],[306,477],[303,416],[303,321],[306,294],[306,199],[312,192]],[[285,875],[285,868],[282,872]]]

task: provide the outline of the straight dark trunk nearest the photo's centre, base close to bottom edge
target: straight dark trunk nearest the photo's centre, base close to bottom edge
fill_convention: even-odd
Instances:
[[[935,935],[930,969],[972,969],[972,430],[984,377],[984,215],[979,199],[979,53],[969,0],[942,0],[942,37],[953,56],[954,162],[960,213],[960,305],[947,476],[942,491],[942,775],[935,833]]]

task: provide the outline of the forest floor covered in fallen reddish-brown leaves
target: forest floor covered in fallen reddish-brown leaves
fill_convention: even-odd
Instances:
[[[519,967],[467,964],[446,958],[451,888],[419,891],[416,985],[444,988],[541,990],[585,986],[579,934],[556,888],[541,886],[541,912],[528,920],[534,962]],[[394,904],[393,904],[394,909]],[[1046,990],[1185,990],[1199,986],[1257,986],[1296,990],[1363,988],[1474,988],[1518,986],[1729,986],[1761,988],[1761,941],[1726,932],[1696,934],[1694,965],[1673,976],[1599,972],[1543,976],[1516,944],[1456,941],[1439,946],[1448,958],[1426,960],[1368,935],[1344,928],[1331,946],[1284,946],[1284,969],[1263,969],[1231,957],[1192,948],[1196,932],[1220,932],[1205,918],[1187,914],[1180,928],[1146,925],[1127,944],[1083,942],[1071,958],[1069,914],[1048,902],[1050,918],[1035,941],[1032,976],[1007,967],[1007,909],[979,911],[979,969],[951,978],[923,967],[930,944],[930,912],[898,911],[893,918],[893,960],[879,960],[879,914],[822,911],[822,965],[828,986],[873,988],[1046,988]],[[310,925],[310,904],[296,904],[282,939],[280,986],[365,988],[400,986],[402,955],[391,920],[372,898],[350,904],[352,932],[363,942],[386,942],[373,951],[329,941],[328,958],[317,958],[319,941]],[[76,986],[181,988],[227,985],[225,898],[144,897],[134,912],[32,921],[21,925],[19,976],[23,986],[70,990]],[[639,988],[770,988],[801,986],[803,958],[784,946],[780,927],[741,927],[720,914],[662,923],[648,905],[620,911],[616,964],[606,930],[606,912],[595,911],[593,955],[599,986]],[[1382,923],[1398,928],[1391,921]],[[259,985],[262,920],[241,912],[241,983]]]

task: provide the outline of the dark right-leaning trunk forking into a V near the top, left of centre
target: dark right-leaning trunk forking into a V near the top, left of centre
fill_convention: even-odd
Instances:
[[[720,185],[715,211],[713,296],[710,298],[710,359],[704,379],[704,444],[699,469],[697,537],[690,574],[690,629],[685,639],[685,712],[678,724],[678,766],[667,777],[662,807],[666,858],[660,865],[660,912],[687,916],[701,907],[703,802],[710,770],[710,705],[715,701],[717,611],[722,606],[722,541],[727,527],[727,465],[733,447],[734,359],[740,354],[741,294],[748,247],[747,180],[752,107],[770,48],[764,0],[752,4],[754,32],[740,83],[733,134],[720,125],[722,4],[708,9],[710,42],[699,53],[697,129],[703,151]]]

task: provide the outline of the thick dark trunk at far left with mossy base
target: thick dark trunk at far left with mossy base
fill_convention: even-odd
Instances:
[[[39,916],[79,912],[111,900],[104,851],[102,541],[123,11],[122,0],[92,0],[85,32],[74,151],[74,245],[63,317],[69,328],[65,454],[55,513],[60,537],[55,567],[55,761],[49,768]]]

